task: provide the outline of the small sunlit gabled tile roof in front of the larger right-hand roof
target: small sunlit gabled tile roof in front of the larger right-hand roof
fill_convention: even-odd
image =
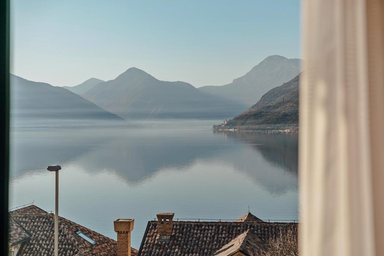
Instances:
[[[237,252],[245,255],[257,255],[264,248],[264,242],[250,230],[238,235],[228,244],[218,249],[213,255],[214,256],[230,256]]]

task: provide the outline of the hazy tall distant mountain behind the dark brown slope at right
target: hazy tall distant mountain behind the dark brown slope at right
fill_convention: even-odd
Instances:
[[[248,107],[260,100],[264,93],[291,80],[300,71],[300,59],[287,59],[279,55],[272,55],[228,85],[203,86],[199,90],[243,103]]]

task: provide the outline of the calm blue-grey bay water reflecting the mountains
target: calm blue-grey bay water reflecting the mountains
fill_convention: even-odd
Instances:
[[[113,220],[134,218],[139,249],[147,221],[175,218],[298,219],[298,135],[216,133],[218,120],[84,125],[13,122],[10,208],[55,205],[60,215],[116,239]]]

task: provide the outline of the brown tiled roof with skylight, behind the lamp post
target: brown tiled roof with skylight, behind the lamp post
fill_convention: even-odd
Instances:
[[[40,256],[54,254],[55,215],[31,205],[10,212],[11,218],[30,234],[20,255]],[[81,231],[96,242],[95,245],[81,238],[76,231]],[[10,236],[17,233],[10,228]],[[59,216],[59,254],[73,256],[83,248],[85,255],[117,255],[116,241],[103,236],[91,229],[85,228],[73,221]],[[132,248],[132,256],[137,250]]]

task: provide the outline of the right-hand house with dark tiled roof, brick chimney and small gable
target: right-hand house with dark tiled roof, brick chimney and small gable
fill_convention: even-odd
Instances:
[[[297,223],[270,223],[250,212],[235,221],[174,221],[173,213],[157,214],[147,224],[139,256],[257,256],[266,242]]]

